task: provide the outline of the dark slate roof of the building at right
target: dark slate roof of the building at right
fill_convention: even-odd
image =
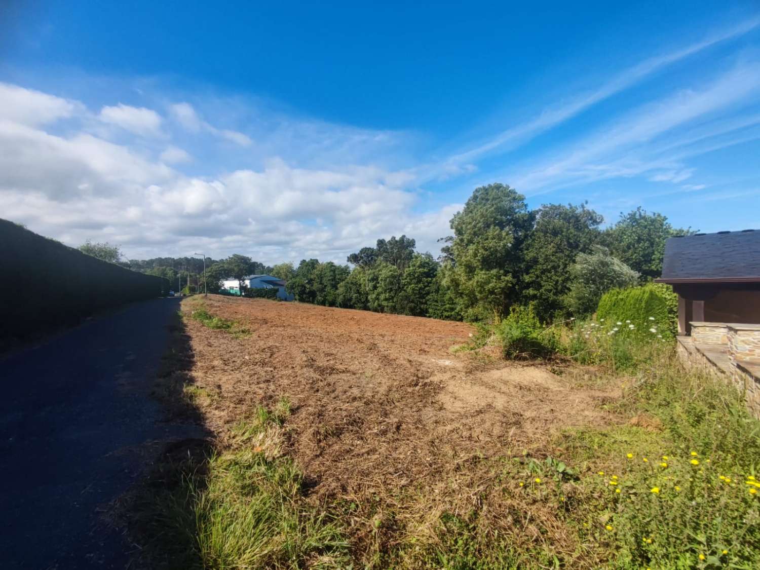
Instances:
[[[760,230],[670,238],[658,281],[760,282]]]

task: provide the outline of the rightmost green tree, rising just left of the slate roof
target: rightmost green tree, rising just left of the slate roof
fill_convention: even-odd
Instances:
[[[663,271],[665,241],[673,236],[693,233],[676,229],[663,214],[648,212],[637,207],[628,214],[620,214],[620,220],[604,232],[603,244],[612,255],[641,274],[641,280],[660,277]]]

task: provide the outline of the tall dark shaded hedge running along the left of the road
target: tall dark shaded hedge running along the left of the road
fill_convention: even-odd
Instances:
[[[0,346],[168,291],[163,277],[101,261],[0,220]]]

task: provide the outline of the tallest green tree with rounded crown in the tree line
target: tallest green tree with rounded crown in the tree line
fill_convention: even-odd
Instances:
[[[453,259],[448,286],[461,296],[467,318],[503,315],[513,302],[533,220],[524,196],[502,184],[476,188],[451,218],[454,236],[444,249]]]

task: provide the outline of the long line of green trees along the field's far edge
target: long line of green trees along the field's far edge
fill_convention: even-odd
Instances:
[[[521,305],[550,322],[593,312],[614,287],[658,277],[665,241],[692,233],[641,207],[620,214],[606,229],[602,223],[586,204],[530,210],[514,188],[492,184],[476,188],[451,218],[452,235],[439,240],[439,258],[417,252],[413,238],[392,236],[348,255],[347,264],[304,259],[297,267],[269,267],[239,254],[206,258],[205,284],[216,293],[225,278],[271,274],[287,281],[300,302],[468,321],[489,320]],[[109,244],[88,242],[81,249],[172,282],[189,275],[189,292],[203,290],[201,258],[122,261]]]

